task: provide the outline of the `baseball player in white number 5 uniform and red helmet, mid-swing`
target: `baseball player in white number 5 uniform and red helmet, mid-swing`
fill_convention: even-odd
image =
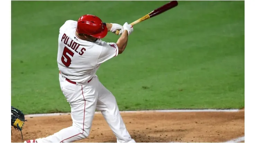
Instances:
[[[120,30],[116,43],[101,41],[108,31]],[[117,102],[95,75],[100,64],[121,54],[133,31],[127,22],[121,26],[102,23],[94,15],[83,15],[78,21],[67,20],[60,28],[57,63],[61,90],[70,103],[72,126],[29,142],[74,142],[89,136],[95,109],[101,111],[117,142],[131,139],[120,115]],[[115,73],[113,73],[115,74]]]

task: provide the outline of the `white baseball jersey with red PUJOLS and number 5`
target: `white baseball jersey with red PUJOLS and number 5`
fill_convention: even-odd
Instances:
[[[67,20],[58,37],[58,68],[64,77],[86,83],[96,73],[100,64],[118,55],[116,43],[101,40],[89,42],[75,35],[77,21]]]

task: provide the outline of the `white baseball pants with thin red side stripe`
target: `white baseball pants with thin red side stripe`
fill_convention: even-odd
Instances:
[[[101,111],[117,137],[117,142],[135,142],[122,120],[116,98],[100,83],[97,76],[84,85],[72,84],[61,74],[59,79],[61,90],[70,103],[73,124],[53,135],[36,139],[37,142],[74,142],[88,137],[95,109]]]

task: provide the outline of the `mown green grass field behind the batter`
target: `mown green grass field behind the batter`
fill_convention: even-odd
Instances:
[[[94,14],[122,25],[165,3],[11,1],[11,105],[25,114],[70,112],[56,61],[66,20]],[[120,110],[242,108],[244,37],[244,1],[179,1],[135,25],[126,51],[97,75]]]

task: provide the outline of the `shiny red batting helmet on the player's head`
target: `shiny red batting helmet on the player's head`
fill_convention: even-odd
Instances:
[[[99,39],[105,37],[108,33],[108,29],[101,19],[90,14],[83,15],[78,19],[76,31]]]

